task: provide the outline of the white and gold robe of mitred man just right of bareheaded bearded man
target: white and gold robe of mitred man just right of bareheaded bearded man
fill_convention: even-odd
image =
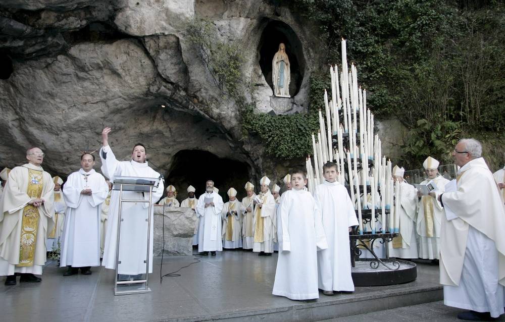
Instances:
[[[242,247],[242,203],[235,199],[224,204],[221,210],[223,217],[223,248]],[[228,211],[236,211],[232,216],[226,216]]]

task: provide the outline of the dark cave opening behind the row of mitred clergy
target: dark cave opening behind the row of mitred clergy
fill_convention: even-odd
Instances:
[[[196,189],[196,197],[205,193],[205,183],[213,180],[219,189],[223,201],[228,201],[226,192],[230,187],[237,190],[238,200],[246,195],[243,189],[249,181],[249,166],[237,160],[220,158],[202,150],[181,150],[174,155],[173,162],[165,179],[165,185],[174,185],[177,189],[177,200],[187,198],[187,187]],[[166,195],[166,192],[165,194]]]

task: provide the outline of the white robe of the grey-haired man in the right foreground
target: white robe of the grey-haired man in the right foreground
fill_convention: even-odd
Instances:
[[[440,234],[440,284],[444,304],[503,314],[505,210],[482,157],[458,171],[456,190],[442,194],[446,216]]]

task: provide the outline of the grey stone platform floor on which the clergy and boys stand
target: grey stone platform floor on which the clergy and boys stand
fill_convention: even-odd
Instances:
[[[194,262],[194,256],[164,258],[163,274]],[[160,260],[149,276],[153,293],[114,296],[114,272],[93,267],[90,276],[63,277],[48,263],[41,283],[3,285],[2,321],[318,321],[438,301],[438,266],[417,261],[415,282],[357,287],[352,294],[314,301],[291,301],[272,295],[277,254],[259,257],[242,250],[218,252],[182,269],[180,277],[160,284]]]

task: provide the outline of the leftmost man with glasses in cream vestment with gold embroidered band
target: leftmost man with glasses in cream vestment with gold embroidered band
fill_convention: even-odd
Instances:
[[[55,183],[41,165],[44,153],[38,147],[26,151],[28,163],[9,174],[0,200],[0,276],[6,285],[40,282],[46,261],[47,222],[55,215]],[[34,275],[35,274],[35,275]]]

